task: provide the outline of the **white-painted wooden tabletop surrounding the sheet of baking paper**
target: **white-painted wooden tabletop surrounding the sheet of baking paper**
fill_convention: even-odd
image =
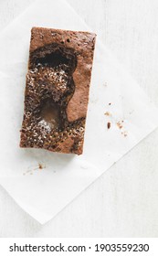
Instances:
[[[158,1],[68,2],[158,105]],[[0,0],[0,31],[30,3]],[[0,237],[158,237],[157,142],[158,129],[45,226],[0,187]]]

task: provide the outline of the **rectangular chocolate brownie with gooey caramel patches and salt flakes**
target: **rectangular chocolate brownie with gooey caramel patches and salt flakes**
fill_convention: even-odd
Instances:
[[[32,28],[21,147],[82,154],[95,37]]]

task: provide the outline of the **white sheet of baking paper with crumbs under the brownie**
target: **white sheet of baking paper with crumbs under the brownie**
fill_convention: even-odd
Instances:
[[[158,115],[97,38],[84,154],[19,148],[30,29],[36,26],[91,29],[66,1],[38,0],[0,35],[0,184],[44,224],[151,133]]]

